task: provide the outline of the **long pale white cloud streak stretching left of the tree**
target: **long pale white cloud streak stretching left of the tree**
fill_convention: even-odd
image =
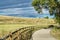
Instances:
[[[24,10],[25,9],[25,10]],[[21,13],[37,13],[33,7],[26,7],[26,8],[9,8],[0,10],[2,14],[21,14]]]

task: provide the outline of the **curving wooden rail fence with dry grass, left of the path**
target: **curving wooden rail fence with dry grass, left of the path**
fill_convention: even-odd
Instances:
[[[33,26],[20,28],[14,32],[10,32],[8,35],[0,38],[0,40],[30,40],[33,31]]]

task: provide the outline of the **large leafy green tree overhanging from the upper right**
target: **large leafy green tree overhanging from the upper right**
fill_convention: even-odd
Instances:
[[[33,0],[32,6],[38,13],[42,12],[42,8],[48,9],[60,24],[60,0]]]

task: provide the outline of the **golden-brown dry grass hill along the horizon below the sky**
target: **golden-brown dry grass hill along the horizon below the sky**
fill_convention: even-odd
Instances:
[[[0,16],[0,24],[2,23],[18,23],[18,24],[55,24],[53,19],[44,18],[19,18],[12,16]]]

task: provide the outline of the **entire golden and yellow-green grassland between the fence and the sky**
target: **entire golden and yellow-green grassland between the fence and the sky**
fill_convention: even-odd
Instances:
[[[56,25],[53,19],[43,18],[18,18],[0,16],[0,37],[26,26],[48,27],[49,25]]]

